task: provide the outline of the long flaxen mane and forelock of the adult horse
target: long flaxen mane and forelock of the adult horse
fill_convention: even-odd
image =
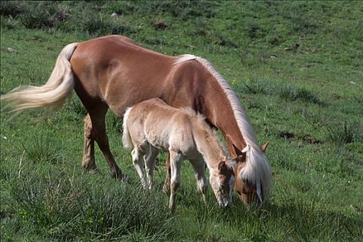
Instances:
[[[268,159],[257,143],[254,131],[250,125],[245,111],[239,102],[239,99],[236,97],[236,94],[232,90],[230,84],[224,80],[222,75],[216,71],[216,69],[212,66],[212,64],[210,64],[210,62],[207,61],[207,59],[203,59],[195,55],[180,55],[180,57],[176,59],[176,62],[174,62],[174,65],[178,65],[189,60],[196,60],[197,62],[201,63],[202,66],[212,74],[212,76],[221,86],[223,93],[230,102],[232,111],[234,113],[234,118],[247,145],[245,149],[243,149],[243,152],[246,152],[245,167],[241,169],[239,176],[241,179],[246,179],[257,185],[257,189],[259,189],[259,183],[261,183],[263,196],[268,198],[270,195],[272,183],[271,169],[268,165]]]

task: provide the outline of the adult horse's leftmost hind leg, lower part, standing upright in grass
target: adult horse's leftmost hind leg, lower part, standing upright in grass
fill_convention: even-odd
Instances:
[[[95,164],[95,138],[93,137],[92,122],[89,114],[83,120],[84,122],[84,145],[83,145],[83,159],[82,167],[87,169],[90,173],[98,173]]]

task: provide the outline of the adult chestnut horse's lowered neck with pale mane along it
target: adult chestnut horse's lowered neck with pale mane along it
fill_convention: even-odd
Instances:
[[[187,62],[191,59],[200,65],[196,62]],[[177,63],[176,73],[173,75],[174,80],[178,81],[176,86],[180,85],[180,80],[183,78],[183,83],[187,84],[185,90],[194,95],[184,93],[176,97],[175,91],[172,91],[173,95],[169,97],[170,100],[174,99],[172,106],[185,106],[185,96],[189,94],[192,100],[187,100],[186,105],[194,105],[196,111],[203,113],[210,123],[221,130],[232,158],[235,158],[247,145],[244,137],[255,142],[253,130],[236,94],[206,59],[185,55],[180,57]],[[198,86],[198,89],[190,89],[191,86]]]

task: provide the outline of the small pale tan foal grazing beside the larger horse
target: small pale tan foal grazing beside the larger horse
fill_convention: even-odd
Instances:
[[[153,169],[156,156],[169,151],[171,162],[171,184],[169,208],[176,207],[175,194],[180,186],[180,167],[183,160],[189,160],[194,169],[198,190],[207,191],[205,163],[210,170],[210,184],[218,205],[225,207],[232,202],[234,172],[232,160],[227,160],[225,151],[216,133],[200,115],[176,109],[156,98],[140,102],[127,109],[124,115],[122,143],[133,149],[133,165],[138,171],[144,187],[153,183]],[[142,158],[145,158],[147,182]]]

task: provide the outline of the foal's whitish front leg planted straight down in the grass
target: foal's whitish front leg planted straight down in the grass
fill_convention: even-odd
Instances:
[[[169,150],[169,153],[170,153],[170,167],[171,167],[169,209],[175,210],[176,190],[180,187],[180,167],[182,162],[182,156],[180,153],[178,153],[178,151]]]

